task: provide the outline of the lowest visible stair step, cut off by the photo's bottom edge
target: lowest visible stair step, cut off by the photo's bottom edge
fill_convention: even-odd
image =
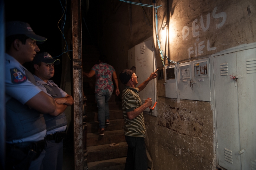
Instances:
[[[89,162],[90,170],[121,170],[124,169],[126,157]]]

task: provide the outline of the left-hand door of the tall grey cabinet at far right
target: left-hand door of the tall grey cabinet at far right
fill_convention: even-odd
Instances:
[[[234,80],[236,53],[213,58],[214,91],[219,165],[228,170],[241,169],[238,93]]]

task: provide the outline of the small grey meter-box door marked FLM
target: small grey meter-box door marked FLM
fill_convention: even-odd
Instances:
[[[193,100],[211,101],[209,58],[192,61]]]

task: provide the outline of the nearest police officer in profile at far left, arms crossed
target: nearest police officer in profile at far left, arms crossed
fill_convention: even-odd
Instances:
[[[36,87],[31,73],[22,66],[39,52],[36,44],[47,38],[36,35],[28,23],[6,23],[5,97],[6,169],[42,169],[45,156],[45,114],[52,114],[55,101]]]

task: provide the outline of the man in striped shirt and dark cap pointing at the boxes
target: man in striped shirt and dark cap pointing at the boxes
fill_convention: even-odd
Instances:
[[[143,90],[149,81],[157,77],[157,70],[151,73],[146,81],[138,84],[134,73],[136,67],[123,70],[119,79],[125,85],[122,92],[122,108],[124,114],[124,135],[128,144],[125,170],[147,170],[148,158],[145,146],[145,124],[143,110],[152,105],[152,99],[148,98],[144,104],[141,103],[139,92]]]

